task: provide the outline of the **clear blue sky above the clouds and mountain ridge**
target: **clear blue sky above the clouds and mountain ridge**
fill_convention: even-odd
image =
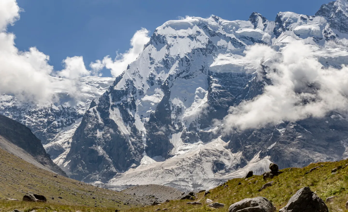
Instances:
[[[8,28],[16,46],[26,51],[36,46],[50,56],[49,64],[62,69],[66,57],[83,56],[92,61],[116,51],[125,52],[134,33],[147,28],[150,34],[167,20],[179,16],[247,20],[253,11],[274,20],[279,11],[314,15],[329,0],[17,0],[21,19]],[[103,76],[111,76],[103,70]]]

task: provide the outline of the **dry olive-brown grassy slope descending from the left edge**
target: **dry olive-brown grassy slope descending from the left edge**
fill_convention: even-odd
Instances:
[[[139,204],[132,196],[80,183],[63,176],[53,177],[54,175],[0,149],[0,208],[5,211],[15,208],[23,211],[35,205],[45,205],[52,207],[53,210],[64,209],[64,211],[69,209],[114,211],[131,207],[124,203],[129,202],[133,207]],[[22,202],[23,195],[28,192],[44,195],[48,202],[41,204]],[[59,196],[63,198],[60,199]],[[6,198],[15,198],[20,201],[6,201],[4,200]],[[94,207],[95,205],[97,207]]]

